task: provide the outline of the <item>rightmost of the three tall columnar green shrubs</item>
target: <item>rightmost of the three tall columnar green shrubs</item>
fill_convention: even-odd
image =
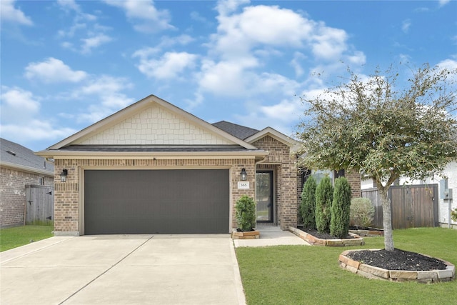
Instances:
[[[349,233],[351,196],[348,179],[344,177],[336,179],[331,204],[330,234],[339,239],[346,238]]]

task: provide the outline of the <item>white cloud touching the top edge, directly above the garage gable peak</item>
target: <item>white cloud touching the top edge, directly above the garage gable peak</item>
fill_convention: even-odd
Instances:
[[[174,26],[169,24],[171,19],[169,11],[156,9],[152,0],[105,0],[105,3],[123,9],[127,18],[134,23],[136,31],[153,33],[165,29],[174,29]]]

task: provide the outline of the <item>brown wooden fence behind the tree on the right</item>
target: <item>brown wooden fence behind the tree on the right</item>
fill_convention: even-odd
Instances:
[[[371,200],[375,208],[371,225],[383,227],[383,207],[378,189],[363,189],[362,197]],[[391,186],[392,228],[407,229],[438,226],[438,184]]]

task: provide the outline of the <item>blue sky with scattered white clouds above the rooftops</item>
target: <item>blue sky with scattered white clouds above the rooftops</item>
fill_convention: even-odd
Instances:
[[[291,135],[299,96],[348,66],[457,68],[457,1],[1,0],[0,11],[1,137],[33,150],[150,94],[210,123]]]

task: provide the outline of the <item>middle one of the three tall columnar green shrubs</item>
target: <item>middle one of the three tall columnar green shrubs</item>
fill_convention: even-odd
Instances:
[[[326,176],[316,187],[316,229],[321,233],[330,233],[332,201],[333,186]]]

